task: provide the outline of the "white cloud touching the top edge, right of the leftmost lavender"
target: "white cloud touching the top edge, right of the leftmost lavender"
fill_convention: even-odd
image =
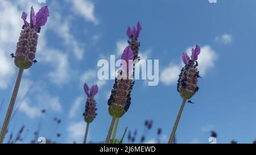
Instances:
[[[72,1],[73,10],[76,14],[84,17],[85,20],[98,24],[98,19],[94,15],[94,4],[89,0]]]

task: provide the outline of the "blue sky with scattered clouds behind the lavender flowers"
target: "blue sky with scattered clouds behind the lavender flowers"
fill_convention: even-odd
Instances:
[[[119,122],[118,136],[125,127],[143,132],[146,119],[154,120],[147,142],[162,128],[166,143],[181,104],[176,91],[182,68],[181,53],[199,44],[200,90],[186,104],[177,128],[178,143],[208,143],[210,131],[217,143],[252,143],[256,139],[256,2],[220,1],[54,1],[46,0],[50,17],[42,27],[33,65],[23,75],[16,100],[19,107],[10,124],[16,133],[24,124],[29,142],[45,108],[40,136],[59,143],[81,143],[85,131],[82,112],[86,95],[84,82],[99,85],[98,115],[90,125],[89,141],[104,141],[111,117],[107,100],[113,80],[97,79],[97,62],[116,55],[127,44],[126,29],[142,24],[141,57],[159,60],[159,85],[135,81],[129,111]],[[22,11],[38,10],[36,0],[0,2],[0,111],[2,124],[18,74],[10,53],[15,51],[22,27]],[[31,89],[32,88],[32,89]],[[23,100],[28,90],[30,93]],[[19,106],[20,105],[20,106]],[[61,123],[55,129],[53,118]],[[53,131],[61,133],[59,139]],[[9,137],[9,135],[7,136]],[[137,141],[138,142],[138,141]]]

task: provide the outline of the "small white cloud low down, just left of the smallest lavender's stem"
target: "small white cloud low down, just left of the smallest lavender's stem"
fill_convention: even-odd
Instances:
[[[84,121],[69,124],[67,128],[68,141],[71,141],[71,143],[74,141],[76,143],[82,143],[85,134],[85,127],[86,123]]]

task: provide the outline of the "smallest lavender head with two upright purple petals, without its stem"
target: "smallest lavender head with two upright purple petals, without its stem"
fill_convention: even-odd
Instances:
[[[91,123],[97,115],[96,101],[94,100],[94,96],[98,93],[98,86],[93,85],[89,91],[88,85],[84,83],[84,91],[88,98],[85,104],[85,112],[82,115],[84,116],[84,120],[86,123]]]

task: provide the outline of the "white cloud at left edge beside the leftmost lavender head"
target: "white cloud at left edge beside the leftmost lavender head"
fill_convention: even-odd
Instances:
[[[7,89],[15,73],[14,60],[10,54],[15,53],[22,20],[18,8],[10,1],[1,1],[0,14],[0,89]]]

